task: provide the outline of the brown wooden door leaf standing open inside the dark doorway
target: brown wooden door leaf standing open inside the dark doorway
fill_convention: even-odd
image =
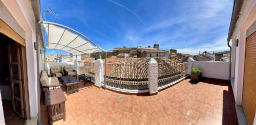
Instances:
[[[9,68],[11,81],[12,108],[20,117],[24,118],[24,87],[22,74],[22,60],[20,58],[20,46],[18,43],[9,45]]]

